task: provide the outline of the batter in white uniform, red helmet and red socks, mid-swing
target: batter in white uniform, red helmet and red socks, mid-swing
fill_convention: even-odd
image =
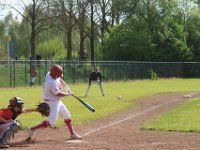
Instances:
[[[59,65],[53,65],[50,72],[46,74],[43,96],[44,102],[48,103],[50,106],[50,114],[48,120],[28,128],[28,141],[35,140],[35,131],[37,129],[53,126],[56,123],[58,116],[63,118],[64,123],[68,127],[71,135],[70,139],[82,139],[82,137],[74,131],[70,112],[61,100],[64,96],[73,95],[71,91],[68,91],[68,93],[62,91],[64,86],[63,80],[61,79],[62,77],[63,69]]]

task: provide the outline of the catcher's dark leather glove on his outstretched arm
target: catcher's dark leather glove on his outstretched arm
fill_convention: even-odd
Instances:
[[[49,114],[50,114],[50,106],[49,106],[49,104],[47,104],[45,102],[42,102],[42,103],[39,103],[36,106],[37,106],[36,110],[39,113],[41,113],[42,116],[46,116],[46,117],[49,116]]]

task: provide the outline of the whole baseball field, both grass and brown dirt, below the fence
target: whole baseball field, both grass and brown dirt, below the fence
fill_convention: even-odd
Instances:
[[[25,142],[26,128],[47,118],[39,113],[22,114],[23,129],[11,140],[10,149],[198,149],[200,146],[200,80],[159,79],[103,83],[106,96],[97,85],[84,97],[87,84],[69,85],[96,111],[90,112],[73,97],[63,98],[76,130],[83,140],[68,140],[63,120],[53,128],[39,130],[34,143]],[[1,107],[13,96],[25,107],[42,101],[42,86],[2,88]],[[65,132],[66,130],[66,132]]]

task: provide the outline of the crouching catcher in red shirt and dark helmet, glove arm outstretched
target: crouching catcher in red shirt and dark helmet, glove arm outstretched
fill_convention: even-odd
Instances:
[[[27,112],[40,112],[42,115],[49,114],[49,106],[40,103],[36,108],[23,108],[24,102],[19,97],[13,97],[9,100],[7,108],[0,109],[0,148],[8,148],[10,138],[17,133],[22,125],[15,120],[20,114]]]

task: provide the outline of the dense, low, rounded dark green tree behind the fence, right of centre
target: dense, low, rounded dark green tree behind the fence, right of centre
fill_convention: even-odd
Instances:
[[[102,47],[104,60],[150,60],[154,48],[144,20],[132,17],[115,26]]]

